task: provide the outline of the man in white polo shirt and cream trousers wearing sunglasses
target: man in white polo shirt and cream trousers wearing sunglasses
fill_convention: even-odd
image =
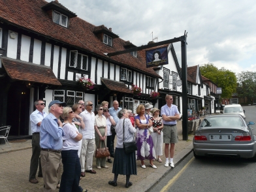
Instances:
[[[93,103],[91,101],[86,101],[84,112],[80,113],[83,118],[85,129],[82,129],[82,149],[80,154],[80,164],[81,164],[81,176],[86,176],[85,172],[95,174],[96,171],[93,170],[93,153],[95,150],[95,129],[94,121],[95,115],[92,112]],[[86,168],[85,168],[86,160]]]

